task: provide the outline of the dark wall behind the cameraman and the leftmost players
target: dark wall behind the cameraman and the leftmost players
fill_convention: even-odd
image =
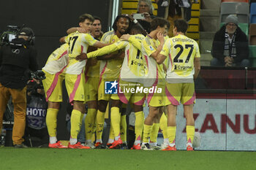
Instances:
[[[39,69],[45,65],[50,53],[60,46],[59,38],[65,36],[67,29],[78,26],[78,17],[84,13],[102,18],[102,31],[108,31],[110,1],[1,1],[0,33],[7,31],[8,25],[26,24],[36,35],[37,58]],[[66,116],[67,93],[58,116],[58,139],[69,139]]]

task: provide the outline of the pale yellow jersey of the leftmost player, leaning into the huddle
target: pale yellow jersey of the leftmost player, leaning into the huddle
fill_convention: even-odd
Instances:
[[[69,45],[65,43],[61,47],[57,48],[50,54],[45,66],[42,68],[45,72],[50,74],[56,74],[58,72],[64,72],[65,67],[69,61],[68,55]]]

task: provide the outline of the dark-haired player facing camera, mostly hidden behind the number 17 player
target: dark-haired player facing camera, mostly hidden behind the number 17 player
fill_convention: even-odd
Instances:
[[[67,34],[75,31],[86,33],[82,27],[72,27],[67,30]],[[94,16],[94,23],[91,26],[91,35],[94,39],[100,40],[102,37],[102,20]],[[90,46],[88,53],[97,50],[96,47]],[[86,143],[85,146],[94,148],[93,140],[96,129],[96,115],[98,105],[98,86],[99,86],[99,61],[96,58],[90,58],[86,63],[86,104],[88,112],[85,119]]]

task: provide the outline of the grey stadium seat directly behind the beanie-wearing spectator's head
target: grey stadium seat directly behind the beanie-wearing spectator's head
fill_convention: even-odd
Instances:
[[[249,23],[249,3],[222,2],[220,7],[220,22],[224,23],[230,14],[237,16],[238,23]]]

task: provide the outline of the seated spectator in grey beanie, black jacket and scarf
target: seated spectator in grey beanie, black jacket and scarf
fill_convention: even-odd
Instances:
[[[215,34],[211,54],[211,66],[249,66],[248,39],[236,15],[228,15],[225,26]]]

